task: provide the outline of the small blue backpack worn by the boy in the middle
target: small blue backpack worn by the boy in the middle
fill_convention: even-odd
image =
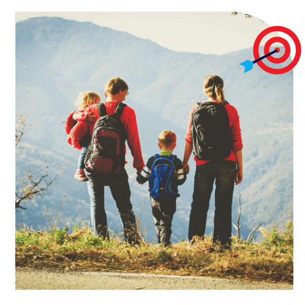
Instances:
[[[171,155],[168,158],[155,155],[156,160],[151,166],[151,174],[148,178],[150,196],[159,198],[177,197],[176,192],[172,190],[172,182],[177,177],[173,160],[176,157]]]

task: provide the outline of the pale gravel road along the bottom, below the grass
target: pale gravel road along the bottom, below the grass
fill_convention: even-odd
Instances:
[[[16,267],[16,290],[293,290],[293,285],[146,275],[145,273]]]

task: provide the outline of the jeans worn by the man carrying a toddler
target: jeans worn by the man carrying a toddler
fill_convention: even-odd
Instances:
[[[109,237],[104,204],[104,186],[109,186],[123,223],[126,241],[139,243],[140,238],[136,232],[136,218],[130,202],[131,193],[126,170],[124,169],[119,174],[86,171],[86,176],[89,179],[87,186],[90,196],[91,222],[97,234],[104,238]]]

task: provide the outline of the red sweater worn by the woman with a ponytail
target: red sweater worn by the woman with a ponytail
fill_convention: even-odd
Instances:
[[[217,101],[212,101],[212,102],[218,103]],[[191,109],[191,113],[189,116],[188,130],[187,130],[187,134],[185,136],[185,140],[192,145],[193,145],[192,136],[191,136],[192,114],[197,107],[198,107],[198,104],[196,103]],[[231,134],[232,134],[232,140],[233,140],[233,149],[234,149],[234,151],[239,151],[240,149],[242,149],[242,140],[241,140],[240,126],[239,126],[239,115],[234,106],[225,104],[225,108],[229,115],[230,128],[231,128]],[[198,160],[196,158],[196,156],[194,156],[194,160],[196,161],[196,166],[210,162],[210,160],[209,161]],[[236,157],[235,157],[233,150],[231,150],[231,155],[228,158],[225,158],[223,160],[229,160],[229,161],[236,162]]]

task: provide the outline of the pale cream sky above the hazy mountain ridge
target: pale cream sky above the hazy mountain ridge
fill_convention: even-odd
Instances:
[[[256,37],[267,27],[265,21],[232,12],[16,12],[16,22],[33,17],[62,17],[89,21],[136,37],[149,39],[174,51],[222,55],[253,48]],[[264,45],[272,32],[262,39]],[[272,46],[281,44],[272,44]],[[276,57],[276,56],[275,56]]]

